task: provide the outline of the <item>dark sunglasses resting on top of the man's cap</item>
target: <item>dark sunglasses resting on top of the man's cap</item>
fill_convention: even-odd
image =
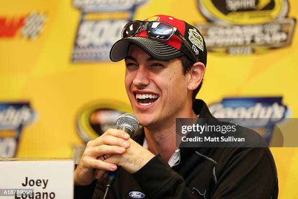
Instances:
[[[173,35],[176,35],[186,45],[196,61],[200,62],[199,57],[192,50],[191,45],[183,37],[181,32],[176,27],[164,21],[130,21],[124,26],[121,36],[122,38],[130,38],[136,36],[142,30],[146,30],[148,37],[154,40],[167,41],[171,39]]]

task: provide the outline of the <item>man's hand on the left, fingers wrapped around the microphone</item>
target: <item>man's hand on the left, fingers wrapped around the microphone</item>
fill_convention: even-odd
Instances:
[[[101,179],[106,171],[115,171],[116,164],[104,161],[103,155],[121,155],[130,147],[129,134],[117,129],[109,129],[100,137],[87,143],[86,149],[75,169],[75,184],[88,185],[95,178]]]

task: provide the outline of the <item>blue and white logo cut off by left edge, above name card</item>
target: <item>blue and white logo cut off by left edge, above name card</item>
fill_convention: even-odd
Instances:
[[[0,157],[15,157],[22,128],[36,119],[30,103],[0,103]]]

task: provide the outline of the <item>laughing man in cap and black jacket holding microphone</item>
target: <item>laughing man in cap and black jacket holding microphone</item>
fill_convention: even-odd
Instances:
[[[133,139],[109,129],[88,142],[75,170],[75,198],[103,198],[105,172],[117,168],[108,199],[277,198],[268,148],[176,146],[176,118],[213,118],[204,101],[194,100],[207,58],[195,27],[165,15],[132,21],[110,57],[125,59],[126,91],[143,128]]]

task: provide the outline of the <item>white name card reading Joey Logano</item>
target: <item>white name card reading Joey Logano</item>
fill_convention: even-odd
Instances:
[[[0,159],[0,199],[73,198],[73,160]]]

